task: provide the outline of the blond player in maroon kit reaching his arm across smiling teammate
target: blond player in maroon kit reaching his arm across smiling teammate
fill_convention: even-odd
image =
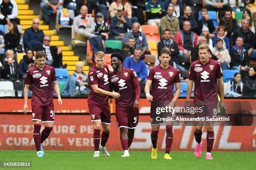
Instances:
[[[109,92],[109,80],[108,74],[110,71],[108,70],[108,66],[104,65],[105,54],[102,51],[98,51],[95,53],[95,62],[96,65],[92,67],[89,71],[89,86],[90,93],[88,96],[88,106],[89,112],[91,116],[91,120],[94,124],[94,156],[99,157],[101,150],[104,153],[104,156],[110,156],[107,149],[105,148],[105,144],[108,141],[109,133],[110,133],[110,124],[111,124],[111,116],[108,105],[108,97],[112,96],[117,99],[120,97],[117,92]],[[100,143],[100,129],[101,125],[103,127],[103,132],[101,135],[101,143]]]

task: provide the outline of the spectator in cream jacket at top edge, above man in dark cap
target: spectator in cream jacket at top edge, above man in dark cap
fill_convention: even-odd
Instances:
[[[124,7],[125,9],[124,15],[127,16],[129,19],[131,19],[132,23],[138,22],[138,18],[132,17],[132,6],[128,2],[128,0],[113,0],[113,2],[110,4],[110,7],[109,7],[111,18],[117,14],[117,9],[119,6]]]

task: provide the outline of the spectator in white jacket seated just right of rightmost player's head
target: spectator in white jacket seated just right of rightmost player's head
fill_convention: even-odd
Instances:
[[[213,48],[212,54],[218,58],[218,62],[221,65],[222,70],[228,70],[231,62],[231,58],[228,50],[223,48],[223,40],[218,38],[216,40],[216,47]]]

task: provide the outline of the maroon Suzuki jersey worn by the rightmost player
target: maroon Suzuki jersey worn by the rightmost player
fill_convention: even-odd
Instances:
[[[200,60],[192,62],[188,78],[195,81],[194,101],[204,102],[203,104],[217,101],[217,79],[222,76],[220,63],[215,60],[210,59],[206,64],[202,64]]]

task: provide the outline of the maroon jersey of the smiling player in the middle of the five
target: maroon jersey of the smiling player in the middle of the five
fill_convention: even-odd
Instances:
[[[119,73],[114,70],[109,79],[110,87],[120,94],[115,100],[116,107],[133,107],[135,99],[139,100],[141,94],[136,72],[130,68],[122,68]]]

